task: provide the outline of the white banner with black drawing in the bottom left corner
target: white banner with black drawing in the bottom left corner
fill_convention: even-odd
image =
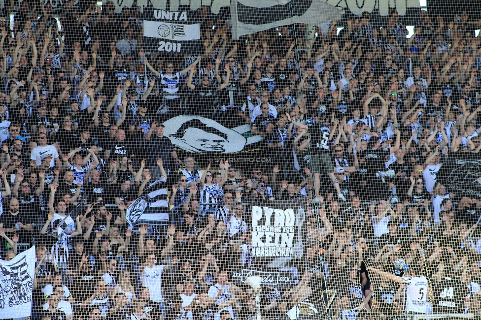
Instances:
[[[30,317],[35,246],[10,261],[0,260],[0,319]]]

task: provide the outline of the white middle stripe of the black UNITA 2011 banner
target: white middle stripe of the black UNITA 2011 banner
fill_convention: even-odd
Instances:
[[[174,41],[198,40],[201,37],[201,25],[179,25],[163,21],[143,21],[143,36]]]

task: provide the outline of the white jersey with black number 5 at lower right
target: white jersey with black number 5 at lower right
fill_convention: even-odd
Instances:
[[[403,277],[404,311],[426,313],[428,280],[426,277]]]

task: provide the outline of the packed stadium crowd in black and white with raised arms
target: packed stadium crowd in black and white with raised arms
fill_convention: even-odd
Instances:
[[[329,309],[316,319],[480,314],[480,197],[436,181],[453,155],[480,159],[480,21],[421,11],[407,38],[397,13],[365,12],[311,40],[295,25],[233,41],[201,9],[204,47],[184,56],[142,49],[139,8],[96,3],[0,16],[0,248],[35,243],[32,320],[256,319],[243,268],[290,279],[263,287],[262,319],[308,296]],[[174,148],[181,114],[248,125],[266,161]],[[155,181],[171,221],[131,227]],[[249,203],[279,200],[308,209],[304,256],[269,268]]]

